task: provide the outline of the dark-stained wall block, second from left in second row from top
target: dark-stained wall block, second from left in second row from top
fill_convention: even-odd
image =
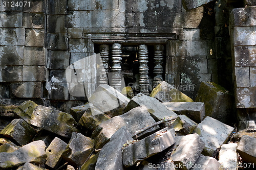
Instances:
[[[43,13],[24,13],[23,28],[44,29],[45,15]]]

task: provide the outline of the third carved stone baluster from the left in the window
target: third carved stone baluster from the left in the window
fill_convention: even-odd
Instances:
[[[139,45],[139,72],[140,72],[140,92],[145,95],[150,95],[150,79],[148,79],[148,51],[146,45]]]

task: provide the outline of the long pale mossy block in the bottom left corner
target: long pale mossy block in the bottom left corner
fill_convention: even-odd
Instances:
[[[26,162],[44,164],[46,145],[42,140],[33,141],[12,153],[0,153],[0,169],[14,168]]]

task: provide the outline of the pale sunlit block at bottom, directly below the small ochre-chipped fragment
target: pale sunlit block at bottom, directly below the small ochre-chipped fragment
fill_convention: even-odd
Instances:
[[[175,137],[173,152],[169,160],[181,166],[181,169],[190,169],[195,164],[204,149],[204,142],[196,133]]]

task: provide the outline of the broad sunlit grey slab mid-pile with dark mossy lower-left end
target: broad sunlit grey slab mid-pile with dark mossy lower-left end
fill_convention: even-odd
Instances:
[[[110,140],[111,136],[123,126],[133,134],[136,131],[154,123],[156,123],[155,120],[150,116],[150,113],[145,107],[136,107],[129,112],[120,116],[115,116],[99,124],[92,134],[95,139],[95,148],[102,148],[103,145]],[[155,128],[158,129],[158,126]],[[140,135],[152,133],[152,131],[154,132],[155,129],[149,129]]]

